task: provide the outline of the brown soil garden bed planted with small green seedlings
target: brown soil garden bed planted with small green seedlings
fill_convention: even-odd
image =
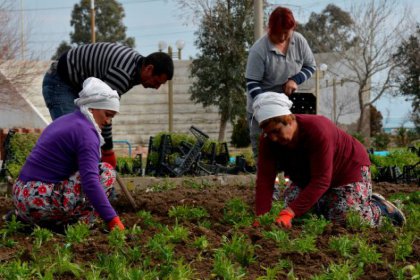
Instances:
[[[13,232],[1,221],[0,278],[404,279],[420,273],[417,184],[374,184],[375,192],[404,206],[403,229],[341,227],[308,216],[283,231],[264,221],[250,226],[252,183],[168,182],[136,189],[138,210],[122,195],[113,203],[128,228],[123,236],[97,226],[82,239],[68,232],[47,238]],[[11,207],[10,198],[0,197],[1,215]]]

